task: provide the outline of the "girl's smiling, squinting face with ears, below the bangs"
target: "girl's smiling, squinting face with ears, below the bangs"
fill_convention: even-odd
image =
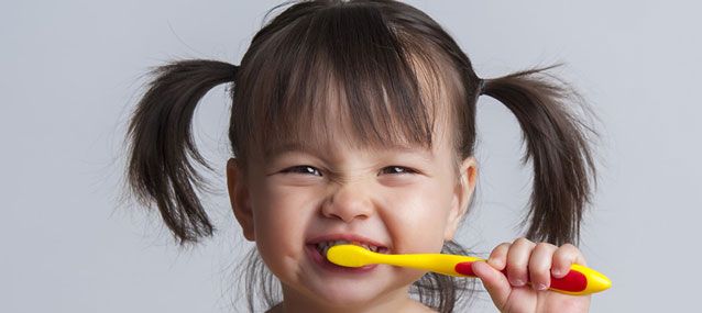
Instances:
[[[354,147],[339,126],[336,139],[319,147],[293,146],[252,159],[246,181],[237,178],[230,160],[234,213],[282,281],[286,302],[407,299],[407,288],[424,272],[386,265],[352,273],[329,269],[316,244],[358,236],[391,254],[439,253],[470,202],[476,169],[468,158],[456,172],[454,152],[439,124],[432,150]]]

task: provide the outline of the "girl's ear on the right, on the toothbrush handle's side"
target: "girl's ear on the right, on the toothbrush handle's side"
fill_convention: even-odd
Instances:
[[[471,203],[471,197],[475,190],[478,182],[478,163],[474,157],[465,158],[460,166],[460,177],[453,189],[453,201],[448,214],[446,231],[443,232],[445,241],[452,241],[456,231],[463,215],[468,211],[468,204]]]

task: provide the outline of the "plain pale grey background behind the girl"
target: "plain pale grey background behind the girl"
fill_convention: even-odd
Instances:
[[[219,232],[202,245],[179,250],[157,215],[119,205],[121,144],[147,67],[172,58],[239,64],[279,2],[3,3],[0,312],[235,311],[233,269],[251,245],[224,189],[224,86],[195,116],[198,145],[219,169],[210,175],[218,192],[205,198]],[[558,72],[602,119],[600,186],[581,248],[613,287],[593,297],[592,312],[696,308],[702,5],[409,2],[456,37],[482,77],[566,62]],[[487,253],[519,235],[531,169],[520,167],[514,116],[486,97],[479,108],[478,203],[460,242]],[[476,300],[474,312],[494,311],[486,295]]]

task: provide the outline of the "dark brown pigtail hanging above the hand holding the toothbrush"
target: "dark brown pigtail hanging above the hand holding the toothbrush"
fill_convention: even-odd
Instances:
[[[555,245],[580,241],[580,222],[591,201],[595,168],[585,131],[569,104],[583,104],[566,83],[537,68],[484,80],[480,94],[504,103],[517,118],[526,142],[522,161],[531,159],[534,190],[529,199],[530,220],[526,237]],[[551,78],[550,80],[547,78]]]

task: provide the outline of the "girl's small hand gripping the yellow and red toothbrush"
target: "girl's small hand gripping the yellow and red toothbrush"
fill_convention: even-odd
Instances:
[[[563,277],[572,264],[585,265],[580,250],[564,244],[535,244],[520,237],[503,243],[490,254],[487,262],[472,264],[500,312],[588,312],[592,295],[570,295],[547,290],[551,273]],[[505,269],[507,276],[502,273]],[[529,280],[530,284],[525,282]]]

